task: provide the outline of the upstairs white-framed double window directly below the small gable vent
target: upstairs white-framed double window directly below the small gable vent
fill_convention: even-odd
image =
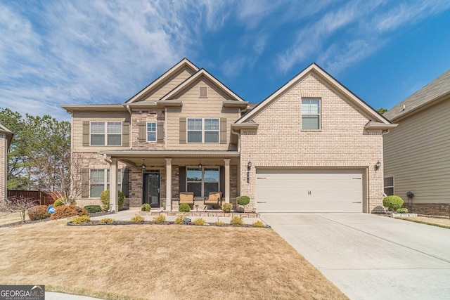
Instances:
[[[218,118],[188,118],[188,143],[219,143]]]

